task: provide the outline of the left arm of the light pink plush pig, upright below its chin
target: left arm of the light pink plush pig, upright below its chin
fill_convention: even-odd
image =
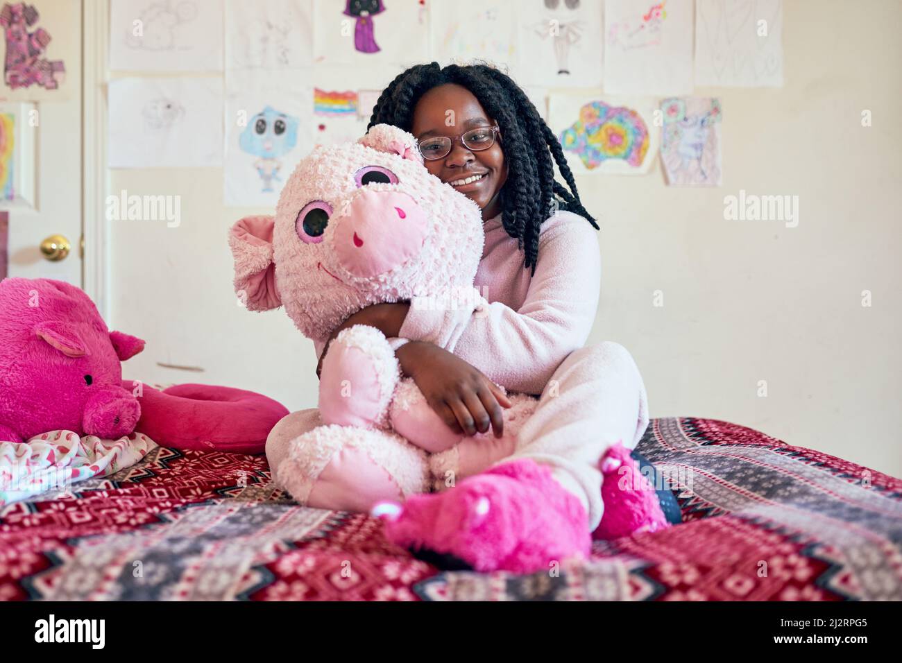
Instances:
[[[384,428],[400,377],[394,349],[375,327],[354,325],[326,349],[319,377],[323,423]]]

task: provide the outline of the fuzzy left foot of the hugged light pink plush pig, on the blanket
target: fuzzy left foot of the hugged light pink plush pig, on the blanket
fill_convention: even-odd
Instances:
[[[322,425],[318,410],[282,419],[266,440],[273,483],[318,509],[369,511],[428,488],[422,450],[383,430]]]

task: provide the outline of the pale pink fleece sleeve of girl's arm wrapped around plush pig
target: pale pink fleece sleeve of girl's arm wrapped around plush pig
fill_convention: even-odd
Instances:
[[[584,218],[561,213],[539,238],[538,265],[518,309],[483,302],[477,310],[410,306],[399,336],[429,341],[512,391],[539,393],[595,320],[601,258]]]

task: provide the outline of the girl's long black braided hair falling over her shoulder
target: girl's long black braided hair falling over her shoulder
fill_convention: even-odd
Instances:
[[[536,272],[539,227],[556,209],[584,216],[598,229],[579,199],[557,136],[526,93],[499,69],[485,64],[440,67],[437,62],[410,67],[382,90],[367,130],[374,124],[393,124],[410,131],[419,97],[447,83],[468,89],[501,129],[508,162],[500,196],[502,225],[526,254],[526,269]],[[556,163],[567,187],[555,180]]]

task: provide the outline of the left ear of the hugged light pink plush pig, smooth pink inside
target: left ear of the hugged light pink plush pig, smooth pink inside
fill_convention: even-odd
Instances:
[[[235,294],[256,311],[281,306],[272,262],[272,216],[244,216],[229,230],[228,245],[235,258]]]

